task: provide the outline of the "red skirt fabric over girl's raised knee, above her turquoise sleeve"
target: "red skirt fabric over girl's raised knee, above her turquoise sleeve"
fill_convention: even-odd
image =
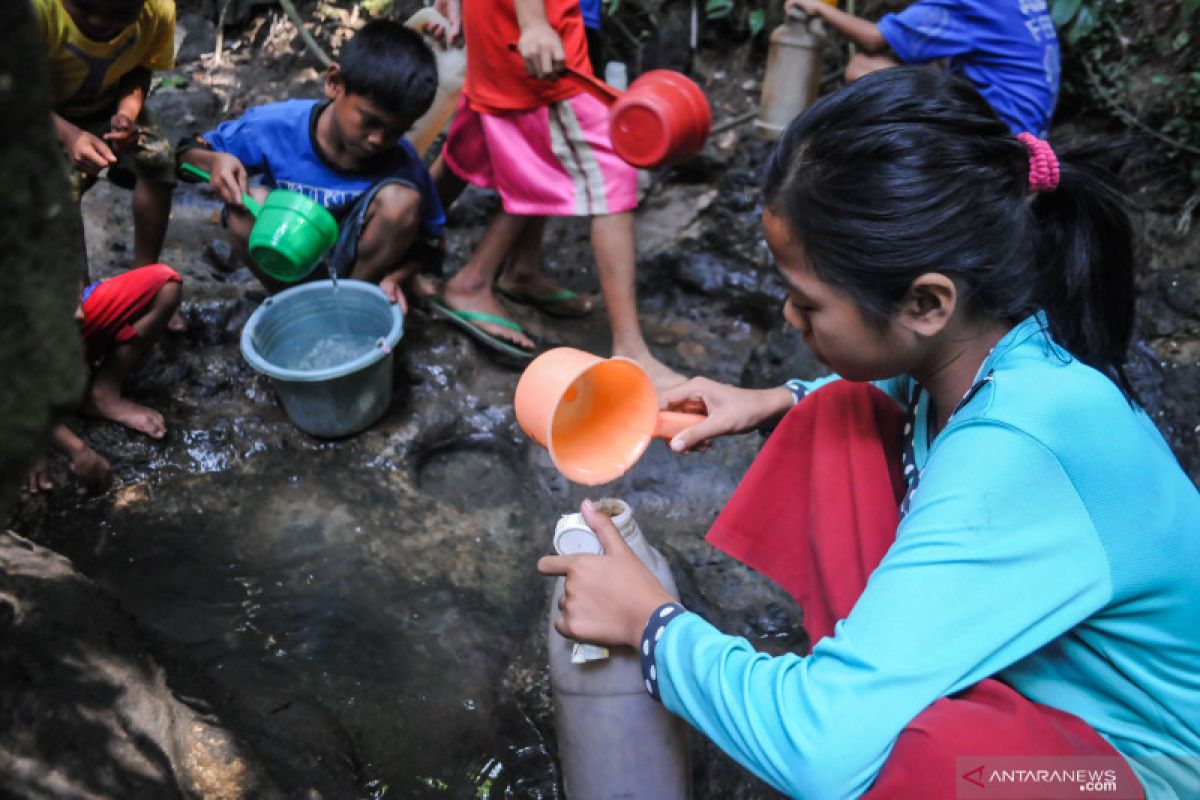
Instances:
[[[812,644],[850,614],[895,540],[904,411],[870,384],[838,380],[779,423],[708,531],[708,542],[782,587]]]

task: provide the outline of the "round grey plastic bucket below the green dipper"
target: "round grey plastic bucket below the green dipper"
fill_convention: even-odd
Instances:
[[[391,354],[404,327],[400,306],[372,283],[338,281],[336,301],[332,281],[293,287],[263,301],[241,331],[242,356],[270,377],[295,426],[314,437],[358,433],[383,416],[391,402]],[[378,342],[365,355],[323,369],[277,363],[280,354],[335,333]]]

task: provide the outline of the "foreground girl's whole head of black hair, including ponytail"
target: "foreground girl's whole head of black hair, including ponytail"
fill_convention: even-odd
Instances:
[[[941,272],[974,313],[1045,311],[1055,341],[1130,397],[1133,228],[1112,176],[1079,155],[1060,154],[1058,187],[1031,196],[1026,146],[970,83],[896,67],[792,121],[764,200],[866,311],[890,317],[914,278]]]

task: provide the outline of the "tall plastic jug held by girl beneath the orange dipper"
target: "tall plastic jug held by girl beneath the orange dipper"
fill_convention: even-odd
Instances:
[[[617,530],[662,587],[678,597],[666,559],[642,535],[622,500],[598,500]],[[580,515],[554,531],[560,553],[599,553],[600,540]],[[647,692],[637,652],[629,646],[592,648],[554,630],[563,578],[550,603],[550,686],[554,727],[569,800],[686,800],[691,796],[688,726]],[[607,650],[607,654],[595,652]],[[576,660],[572,660],[575,656]],[[582,660],[587,658],[587,660]]]

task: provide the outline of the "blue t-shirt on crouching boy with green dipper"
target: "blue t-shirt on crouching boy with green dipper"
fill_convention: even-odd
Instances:
[[[317,146],[320,108],[314,100],[258,106],[202,138],[214,150],[236,156],[251,175],[262,175],[269,188],[300,192],[338,218],[380,180],[400,180],[421,194],[421,236],[440,239],[445,212],[430,170],[413,145],[400,139],[392,155],[370,173],[340,169],[325,161]]]

